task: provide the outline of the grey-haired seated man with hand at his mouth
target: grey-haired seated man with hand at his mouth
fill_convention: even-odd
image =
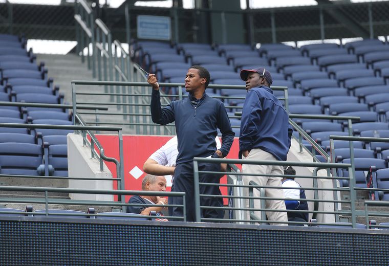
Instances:
[[[142,181],[142,190],[144,191],[166,191],[166,179],[161,175],[152,175],[146,174]],[[144,195],[135,195],[129,198],[128,203],[133,204],[157,204],[165,205],[167,204],[167,199],[159,196],[144,196]],[[166,207],[162,206],[127,206],[127,212],[129,213],[138,213],[142,215],[149,215],[150,211],[156,211],[157,216],[163,216],[162,210]],[[167,221],[167,219],[161,218],[156,220]]]

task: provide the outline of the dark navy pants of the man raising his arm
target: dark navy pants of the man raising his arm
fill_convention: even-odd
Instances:
[[[220,164],[214,163],[199,163],[200,171],[217,171],[220,172]],[[220,174],[200,174],[199,181],[201,183],[219,184]],[[195,221],[195,191],[193,187],[193,163],[182,163],[176,166],[174,172],[174,185],[172,191],[185,192],[185,207],[186,220]],[[200,194],[221,195],[219,186],[200,186]],[[172,204],[183,204],[182,197],[171,197]],[[223,198],[221,197],[200,197],[200,205],[208,207],[223,207]],[[183,209],[174,207],[172,209],[173,216],[183,216]],[[170,211],[169,211],[170,212]],[[204,218],[223,218],[224,210],[201,209],[201,217]]]

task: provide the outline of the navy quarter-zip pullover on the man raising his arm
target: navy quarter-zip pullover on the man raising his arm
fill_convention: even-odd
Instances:
[[[154,123],[166,125],[176,122],[178,140],[178,156],[176,165],[192,162],[193,157],[208,157],[217,150],[215,137],[217,128],[222,132],[223,157],[230,151],[235,133],[232,131],[224,104],[209,97],[196,100],[189,94],[187,99],[172,101],[166,107],[161,107],[159,91],[153,90],[150,103]]]

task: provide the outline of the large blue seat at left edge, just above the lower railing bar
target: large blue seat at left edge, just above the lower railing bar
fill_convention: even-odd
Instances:
[[[38,175],[42,147],[31,143],[0,143],[0,173]]]

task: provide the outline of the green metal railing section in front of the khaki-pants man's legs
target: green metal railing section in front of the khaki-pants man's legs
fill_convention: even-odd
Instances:
[[[228,199],[236,199],[236,198],[240,198],[240,199],[244,199],[244,200],[249,200],[251,201],[251,203],[249,204],[249,208],[246,208],[244,206],[244,208],[242,207],[220,207],[220,209],[224,209],[224,210],[233,210],[233,211],[259,211],[259,212],[265,212],[265,211],[277,211],[277,210],[273,210],[273,209],[266,209],[266,208],[259,208],[259,209],[254,209],[253,206],[252,206],[252,201],[254,200],[260,200],[262,203],[261,206],[265,206],[264,205],[264,201],[265,200],[285,200],[285,198],[272,198],[272,197],[265,197],[263,192],[262,192],[262,195],[260,197],[254,197],[252,196],[252,191],[253,189],[258,189],[258,190],[263,190],[263,189],[267,189],[267,188],[287,188],[287,187],[267,187],[267,186],[257,186],[255,185],[254,183],[252,183],[252,185],[240,185],[240,184],[237,184],[237,185],[231,185],[231,184],[228,184],[228,185],[222,185],[222,184],[213,184],[213,183],[200,183],[199,182],[199,176],[200,174],[202,173],[214,173],[214,174],[220,174],[220,175],[223,175],[223,174],[226,174],[225,172],[209,172],[209,171],[200,171],[199,170],[199,163],[228,163],[228,164],[252,164],[252,165],[255,165],[255,164],[260,164],[260,165],[279,165],[279,166],[284,166],[284,165],[288,165],[288,166],[302,166],[302,167],[315,167],[317,168],[315,171],[314,171],[314,175],[309,175],[309,176],[301,176],[301,175],[295,175],[296,178],[307,178],[307,179],[328,179],[328,180],[334,180],[334,179],[345,179],[345,180],[349,180],[350,181],[350,184],[354,184],[354,175],[352,174],[352,165],[351,164],[339,164],[339,163],[301,163],[301,162],[285,162],[285,161],[254,161],[254,160],[232,160],[232,159],[206,159],[206,158],[194,158],[193,159],[193,182],[194,182],[194,187],[195,187],[195,211],[196,211],[196,221],[229,221],[229,222],[246,222],[246,223],[252,223],[252,222],[255,222],[255,223],[285,223],[285,222],[281,222],[281,221],[268,221],[264,218],[264,216],[262,215],[262,217],[258,217],[256,215],[250,215],[250,219],[247,220],[247,219],[215,219],[215,218],[201,218],[201,209],[207,209],[207,208],[215,208],[215,207],[207,207],[207,206],[200,206],[200,197],[202,196],[210,196],[210,195],[204,195],[204,194],[200,194],[200,190],[199,190],[199,186],[235,186],[235,187],[240,187],[242,189],[249,189],[251,190],[251,195],[249,194],[248,197],[242,197],[240,195],[236,196],[236,195],[211,195],[212,197],[224,197],[224,198],[228,198]],[[317,176],[315,175],[317,173],[317,170],[318,169],[328,169],[328,168],[347,168],[349,171],[350,171],[350,176],[347,177],[347,178],[338,178],[338,177],[333,177],[333,176],[330,176],[330,175],[327,175],[327,176]],[[234,173],[234,175],[240,175],[241,176],[241,179],[245,179],[245,176],[275,176],[275,177],[288,177],[288,175],[272,175],[272,174],[258,174],[258,173],[241,173],[241,172],[237,172],[237,173]],[[287,188],[288,189],[288,188]],[[291,188],[289,187],[289,189],[295,189],[295,188]],[[304,199],[304,201],[307,201],[307,202],[317,202],[317,203],[333,203],[333,204],[349,204],[350,205],[350,210],[334,210],[334,211],[328,211],[328,210],[325,210],[325,211],[320,211],[320,210],[309,210],[309,211],[305,211],[305,212],[308,212],[308,213],[316,213],[316,214],[334,214],[334,215],[350,215],[351,216],[351,220],[352,220],[352,225],[353,227],[355,227],[355,224],[356,224],[356,212],[355,212],[355,198],[356,198],[356,191],[355,191],[355,187],[354,186],[350,186],[349,188],[337,188],[337,187],[323,187],[323,188],[312,188],[312,187],[301,187],[300,189],[304,189],[304,190],[316,190],[316,191],[349,191],[350,192],[350,200],[347,201],[347,200],[319,200],[319,199]],[[297,199],[297,200],[303,200],[303,199]],[[285,210],[286,211],[286,210]],[[289,212],[290,210],[288,210]],[[293,210],[291,211],[293,212]],[[301,211],[301,212],[304,212],[304,211]],[[289,224],[291,225],[299,225],[299,224],[309,224],[309,223],[302,223],[302,222],[292,222],[292,221],[288,221]],[[328,223],[326,223],[328,224]],[[320,225],[320,223],[318,223],[318,225]]]

